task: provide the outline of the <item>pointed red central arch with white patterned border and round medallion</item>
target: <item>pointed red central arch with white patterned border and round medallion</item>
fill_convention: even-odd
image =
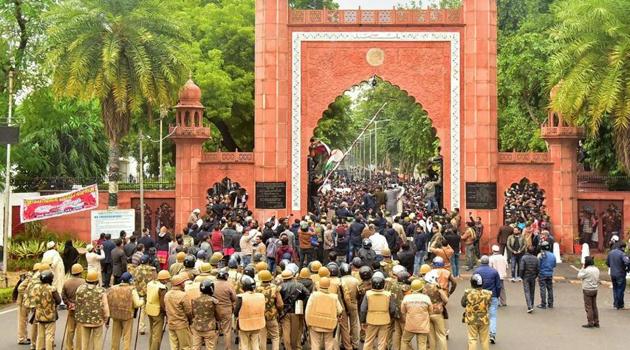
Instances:
[[[428,112],[442,140],[444,204],[450,208],[460,206],[460,34],[459,31],[292,33],[293,211],[306,207],[303,155],[317,121],[337,95],[373,75],[407,91]],[[377,60],[370,57],[375,51]]]

